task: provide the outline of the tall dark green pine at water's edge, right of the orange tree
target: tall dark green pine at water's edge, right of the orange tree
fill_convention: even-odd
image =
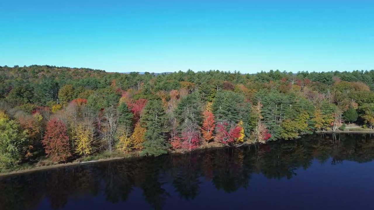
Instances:
[[[143,151],[141,155],[162,155],[168,153],[171,146],[165,139],[163,128],[165,110],[159,100],[151,100],[145,105],[145,113],[142,117],[142,126],[147,130],[144,135]]]

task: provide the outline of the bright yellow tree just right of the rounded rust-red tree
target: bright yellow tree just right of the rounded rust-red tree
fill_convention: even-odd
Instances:
[[[93,128],[91,125],[79,124],[76,127],[74,139],[76,142],[76,153],[89,155],[93,150]]]

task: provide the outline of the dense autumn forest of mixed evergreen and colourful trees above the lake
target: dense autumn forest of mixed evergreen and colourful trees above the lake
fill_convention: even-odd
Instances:
[[[158,156],[373,129],[374,70],[121,74],[0,67],[0,169],[102,152]]]

